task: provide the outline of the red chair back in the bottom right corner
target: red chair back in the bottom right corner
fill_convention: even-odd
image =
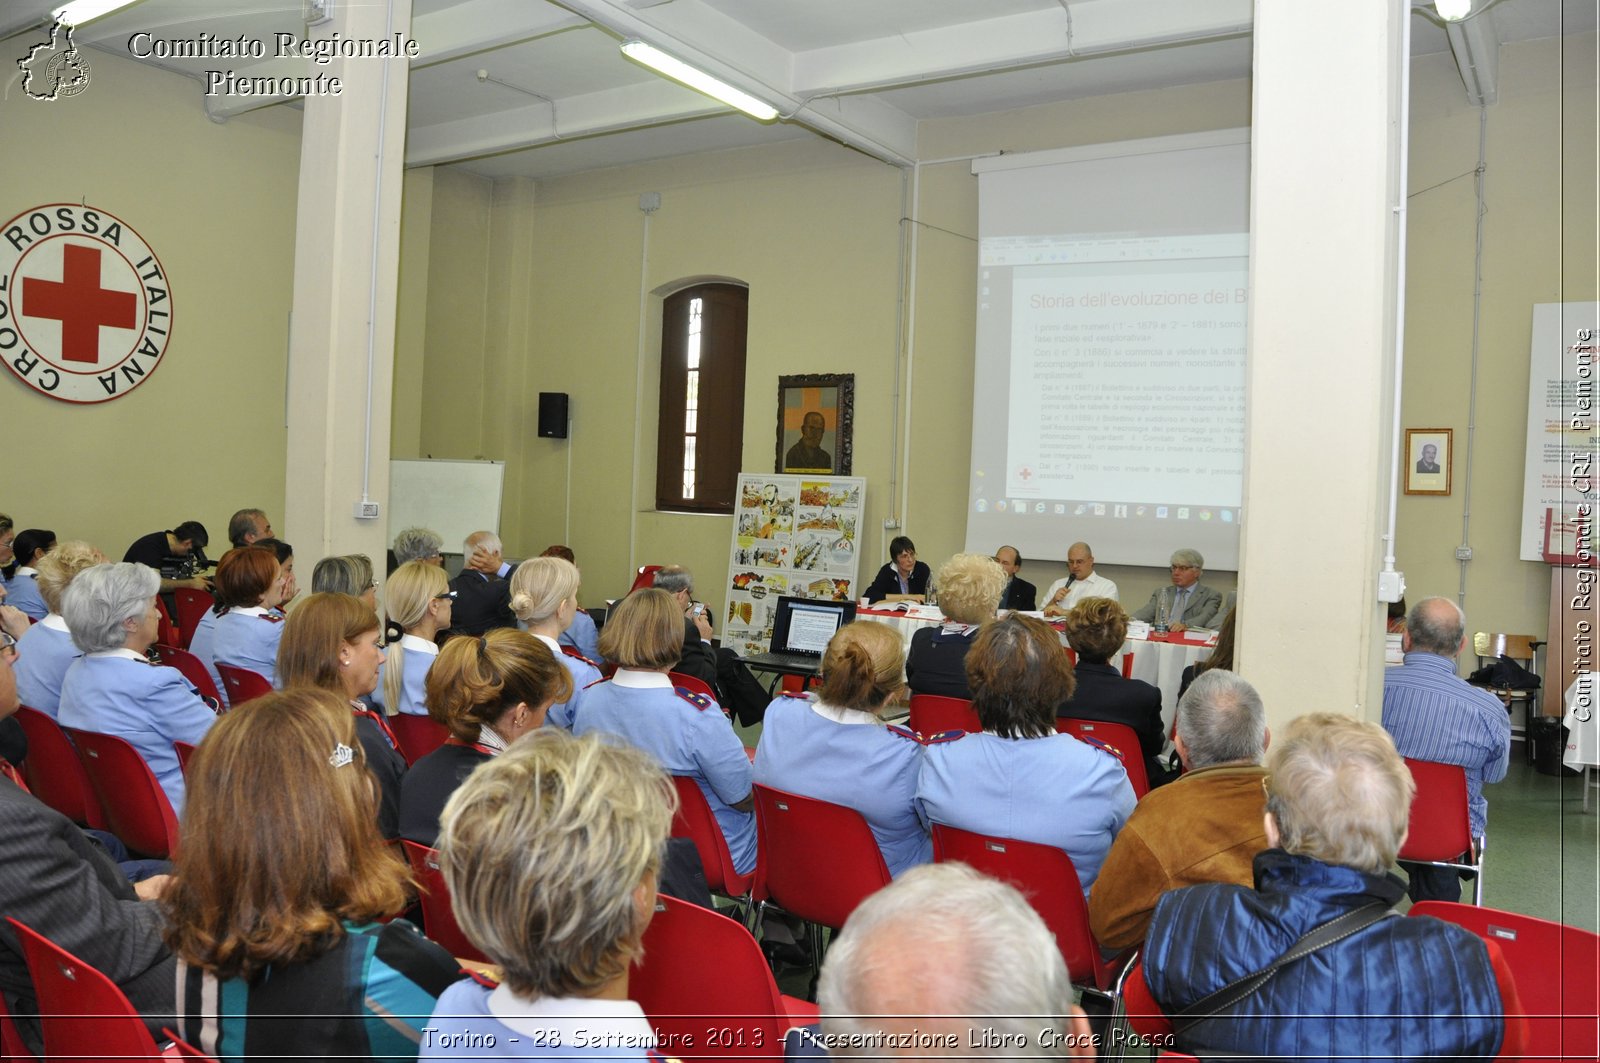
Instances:
[[[1432,916],[1494,941],[1517,983],[1526,1023],[1525,1058],[1595,1060],[1600,1007],[1600,935],[1510,911],[1418,901],[1408,916]]]

